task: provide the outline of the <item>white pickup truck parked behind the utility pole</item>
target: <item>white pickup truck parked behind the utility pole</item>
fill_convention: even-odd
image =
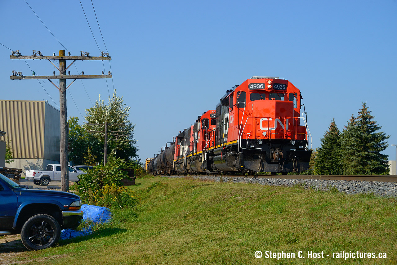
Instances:
[[[79,181],[79,175],[85,174],[84,172],[78,172],[72,166],[68,166],[69,169],[69,181]],[[36,185],[46,186],[50,181],[61,180],[61,165],[60,164],[49,164],[46,170],[26,170],[25,180],[33,180]]]

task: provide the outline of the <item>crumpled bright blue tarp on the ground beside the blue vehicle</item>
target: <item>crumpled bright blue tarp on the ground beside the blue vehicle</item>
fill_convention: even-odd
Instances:
[[[83,204],[81,210],[84,212],[83,220],[91,220],[95,224],[110,222],[110,210],[106,207]],[[61,232],[61,239],[75,238],[77,236],[88,236],[92,233],[91,227],[84,230],[76,231],[71,228],[63,229]]]

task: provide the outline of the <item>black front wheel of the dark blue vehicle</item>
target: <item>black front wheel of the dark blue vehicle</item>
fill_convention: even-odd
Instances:
[[[29,250],[42,250],[53,246],[60,238],[61,228],[51,215],[34,215],[22,226],[21,240]]]

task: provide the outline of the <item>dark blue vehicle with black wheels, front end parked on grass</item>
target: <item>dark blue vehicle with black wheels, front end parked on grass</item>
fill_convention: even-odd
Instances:
[[[53,246],[64,228],[81,224],[80,197],[68,192],[31,190],[0,174],[0,236],[19,234],[29,250]]]

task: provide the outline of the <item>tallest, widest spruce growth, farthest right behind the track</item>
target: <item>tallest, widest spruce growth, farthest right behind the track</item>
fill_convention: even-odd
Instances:
[[[341,137],[342,157],[345,174],[385,174],[387,155],[381,152],[387,148],[389,135],[378,132],[379,126],[370,114],[366,102],[351,117]]]

